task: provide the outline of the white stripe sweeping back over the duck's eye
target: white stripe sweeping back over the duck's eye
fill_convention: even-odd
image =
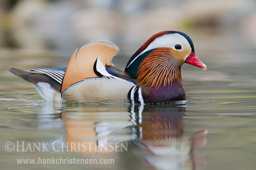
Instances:
[[[137,55],[133,59],[133,61],[130,62],[127,68],[146,51],[161,47],[169,47],[175,49],[176,44],[179,44],[182,47],[180,50],[182,50],[185,47],[189,47],[191,49],[190,43],[187,41],[187,39],[178,33],[162,35],[161,37],[157,37],[153,42],[149,44],[149,46],[144,51]]]

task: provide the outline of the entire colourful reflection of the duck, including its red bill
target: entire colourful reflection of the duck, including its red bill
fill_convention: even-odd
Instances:
[[[139,158],[138,163],[146,163],[152,169],[192,169],[193,147],[201,147],[206,141],[205,137],[194,136],[206,131],[183,136],[185,109],[185,105],[70,104],[62,109],[61,119],[67,146],[83,155],[119,161],[127,157],[133,160],[133,155]],[[120,152],[121,148],[125,153]]]

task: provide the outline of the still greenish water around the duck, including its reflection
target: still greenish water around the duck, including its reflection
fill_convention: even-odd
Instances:
[[[43,101],[31,84],[5,68],[65,67],[69,58],[39,59],[6,50],[0,64],[0,169],[255,169],[256,48],[242,36],[192,39],[208,70],[183,65],[187,102],[168,105],[94,107]],[[123,68],[127,61],[119,56],[114,64]],[[13,151],[7,151],[7,142],[14,143]],[[18,165],[20,158],[104,159],[114,164]]]

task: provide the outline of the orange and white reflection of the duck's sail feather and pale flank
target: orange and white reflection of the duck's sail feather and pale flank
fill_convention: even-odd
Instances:
[[[115,150],[117,143],[135,139],[130,130],[133,123],[128,106],[69,107],[62,112],[61,118],[67,145],[75,151],[109,152]]]

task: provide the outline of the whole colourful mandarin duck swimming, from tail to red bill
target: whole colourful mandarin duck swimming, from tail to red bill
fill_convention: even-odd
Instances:
[[[131,56],[124,70],[112,63],[118,51],[114,43],[100,40],[76,49],[67,68],[30,70],[40,73],[8,70],[31,82],[45,100],[144,105],[185,100],[183,63],[207,69],[197,58],[190,37],[178,31],[154,34]]]

